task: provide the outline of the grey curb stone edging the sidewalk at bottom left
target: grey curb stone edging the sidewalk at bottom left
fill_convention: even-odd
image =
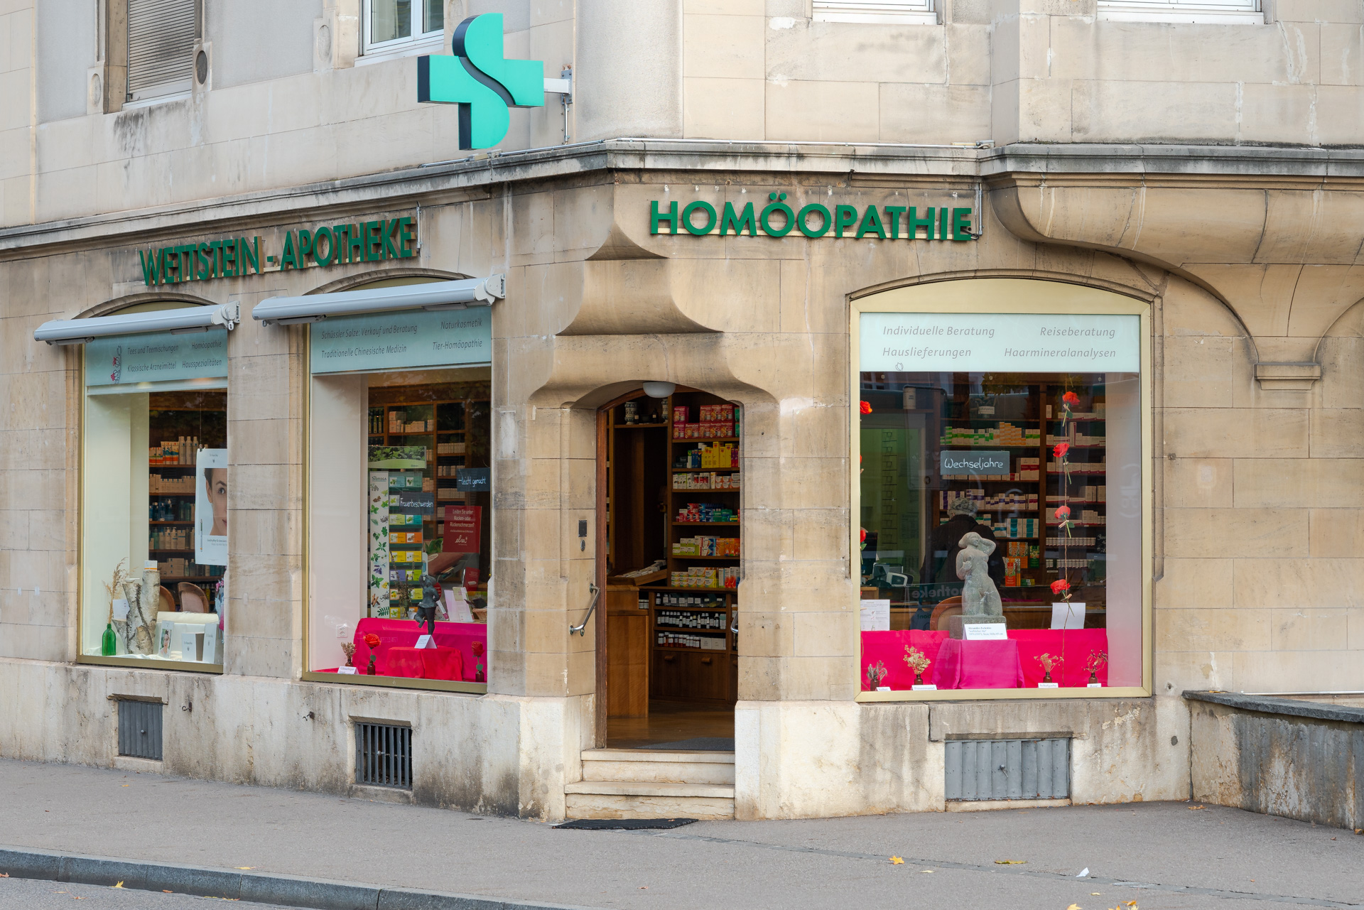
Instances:
[[[0,847],[0,872],[41,879],[142,891],[173,891],[201,898],[229,898],[308,910],[593,910],[577,905],[390,888],[236,869],[85,857],[52,850]]]

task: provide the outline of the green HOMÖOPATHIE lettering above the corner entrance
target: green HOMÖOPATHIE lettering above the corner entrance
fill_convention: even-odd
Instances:
[[[868,206],[859,213],[857,206],[835,205],[831,210],[812,202],[795,210],[786,203],[784,192],[769,192],[768,205],[756,217],[752,202],[746,202],[742,210],[735,210],[732,202],[726,202],[720,211],[704,199],[689,202],[681,211],[679,202],[666,205],[667,209],[660,209],[657,199],[649,202],[649,233],[690,233],[698,237],[712,233],[722,237],[747,233],[756,237],[761,233],[784,237],[798,229],[810,239],[822,237],[829,231],[835,237],[853,236],[857,240],[866,236],[878,240],[975,239],[971,233],[973,210],[951,206],[928,206],[922,209],[922,214],[915,206]],[[667,231],[662,229],[664,225]]]

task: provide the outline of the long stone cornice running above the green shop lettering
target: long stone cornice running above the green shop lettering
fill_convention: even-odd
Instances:
[[[832,142],[604,139],[480,153],[341,180],[198,199],[0,229],[0,261],[308,217],[487,199],[512,183],[587,180],[648,172],[694,180],[697,172],[757,179],[837,177],[851,186],[1215,186],[1364,190],[1364,149],[1260,146],[1035,145],[998,149]]]

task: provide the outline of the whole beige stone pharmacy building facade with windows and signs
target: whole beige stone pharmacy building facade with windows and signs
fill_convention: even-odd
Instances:
[[[941,812],[1364,690],[1360,0],[0,35],[3,757]]]

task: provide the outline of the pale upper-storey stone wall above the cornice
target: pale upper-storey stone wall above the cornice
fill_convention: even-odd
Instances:
[[[413,57],[357,63],[360,0],[291,4],[286,19],[274,5],[209,0],[205,86],[121,111],[95,79],[105,67],[95,4],[53,5],[41,19],[31,0],[0,5],[0,225],[473,154],[458,149],[453,105],[417,104]],[[464,15],[501,12],[507,56],[542,60],[551,78],[572,65],[573,142],[1339,146],[1360,136],[1360,0],[1277,0],[1266,25],[1109,22],[1095,0],[940,5],[938,23],[865,25],[817,22],[809,0],[451,0],[443,40]],[[67,7],[72,22],[59,26]],[[240,25],[266,19],[273,27]],[[503,151],[563,142],[558,96],[510,116]]]

